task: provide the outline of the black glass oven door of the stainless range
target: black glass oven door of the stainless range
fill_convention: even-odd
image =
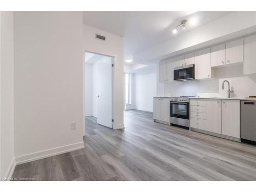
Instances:
[[[189,103],[171,101],[170,116],[182,119],[189,119]]]

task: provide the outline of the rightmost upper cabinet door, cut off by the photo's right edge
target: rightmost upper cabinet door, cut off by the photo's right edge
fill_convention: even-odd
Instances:
[[[244,38],[244,74],[256,73],[256,35]]]

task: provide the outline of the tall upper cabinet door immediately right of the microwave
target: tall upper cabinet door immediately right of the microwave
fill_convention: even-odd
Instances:
[[[211,77],[210,48],[195,52],[195,71],[196,79]]]

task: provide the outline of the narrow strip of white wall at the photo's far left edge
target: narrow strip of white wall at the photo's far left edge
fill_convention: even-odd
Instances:
[[[10,177],[14,160],[13,12],[0,12],[0,177]]]

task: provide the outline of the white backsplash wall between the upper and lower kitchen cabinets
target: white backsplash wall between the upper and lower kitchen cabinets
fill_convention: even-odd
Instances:
[[[223,80],[228,80],[231,97],[248,97],[256,95],[256,74],[243,75],[243,66],[232,66],[215,69],[216,79],[160,83],[164,85],[164,93],[171,96],[199,95],[201,97],[227,97],[227,84],[222,90]]]

